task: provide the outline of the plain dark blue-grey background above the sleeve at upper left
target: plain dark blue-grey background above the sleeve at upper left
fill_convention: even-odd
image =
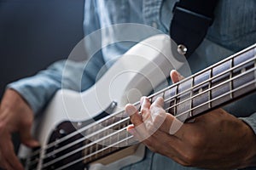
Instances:
[[[9,82],[67,59],[83,18],[84,0],[0,0],[0,98]]]

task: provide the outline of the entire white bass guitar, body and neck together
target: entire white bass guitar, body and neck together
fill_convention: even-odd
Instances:
[[[40,148],[20,148],[27,170],[119,169],[141,161],[145,146],[125,128],[125,105],[141,96],[165,99],[182,122],[256,90],[256,44],[152,94],[172,69],[188,63],[173,57],[166,35],[149,37],[121,57],[96,84],[78,93],[61,89],[34,126]]]

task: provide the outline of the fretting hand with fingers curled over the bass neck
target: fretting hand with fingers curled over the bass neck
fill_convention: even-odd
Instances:
[[[181,77],[171,73],[172,82]],[[162,98],[151,105],[141,100],[140,114],[126,105],[131,115],[127,130],[150,150],[168,156],[183,166],[213,169],[256,165],[256,135],[245,122],[222,109],[198,116],[195,122],[179,122],[162,108]]]

